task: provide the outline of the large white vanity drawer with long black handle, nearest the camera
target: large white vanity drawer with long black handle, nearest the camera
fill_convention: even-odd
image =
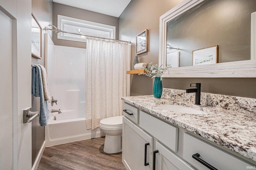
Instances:
[[[246,169],[246,166],[254,166],[225,150],[202,141],[188,133],[184,133],[183,158],[200,170],[208,170],[206,166],[192,158],[192,155],[196,153],[200,155],[199,158],[218,170],[243,170]]]

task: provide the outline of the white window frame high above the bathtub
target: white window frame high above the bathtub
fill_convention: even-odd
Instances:
[[[77,18],[71,18],[67,16],[58,15],[58,28],[64,31],[64,24],[81,26],[81,27],[90,27],[90,29],[100,30],[110,32],[110,39],[116,39],[116,27],[112,25],[106,25],[102,23],[96,23],[92,21],[80,20]],[[92,35],[95,36],[95,35]],[[86,38],[78,38],[78,37],[70,37],[68,35],[64,35],[64,33],[60,32],[57,34],[58,39],[70,40],[70,41],[79,41],[86,42]]]

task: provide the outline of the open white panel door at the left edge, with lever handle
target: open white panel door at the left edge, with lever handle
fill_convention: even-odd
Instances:
[[[0,169],[31,170],[31,0],[0,0]]]

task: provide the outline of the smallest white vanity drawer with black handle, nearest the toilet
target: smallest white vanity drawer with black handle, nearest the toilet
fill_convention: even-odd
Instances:
[[[134,123],[139,123],[139,109],[131,106],[127,103],[123,105],[123,114],[125,117],[133,121]]]

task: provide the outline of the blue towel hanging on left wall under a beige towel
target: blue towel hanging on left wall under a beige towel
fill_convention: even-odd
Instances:
[[[49,109],[47,101],[44,100],[42,73],[38,65],[32,66],[32,96],[40,97],[39,123],[41,126],[46,126],[49,118]]]

